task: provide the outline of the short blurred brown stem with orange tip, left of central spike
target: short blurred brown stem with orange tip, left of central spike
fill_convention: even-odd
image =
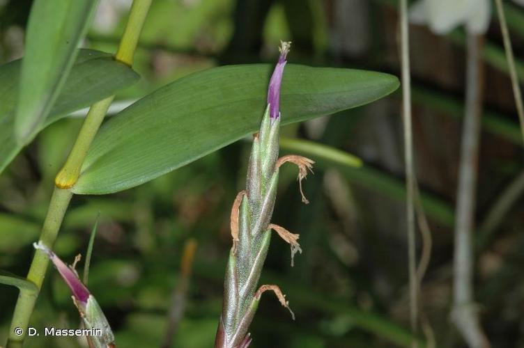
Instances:
[[[164,336],[164,341],[160,346],[161,348],[171,347],[173,336],[175,335],[176,330],[178,329],[178,324],[180,324],[180,320],[184,315],[187,302],[187,287],[190,283],[196,246],[196,239],[194,238],[190,238],[185,242],[180,266],[180,278],[178,278],[178,284],[173,290],[171,296],[171,307],[169,307],[169,313],[167,314],[167,330]]]

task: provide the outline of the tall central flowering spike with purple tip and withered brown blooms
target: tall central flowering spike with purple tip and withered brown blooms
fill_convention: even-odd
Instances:
[[[282,305],[288,308],[284,295],[276,285],[263,285],[258,291],[256,288],[268,255],[272,230],[277,231],[291,246],[292,265],[293,255],[300,252],[298,235],[270,223],[277,196],[278,167],[285,161],[292,161],[298,165],[299,179],[302,180],[313,163],[305,157],[292,156],[284,157],[277,164],[279,95],[289,48],[290,42],[282,42],[279,61],[268,87],[268,106],[265,108],[259,132],[253,139],[246,189],[238,193],[231,208],[233,247],[224,277],[224,306],[217,328],[215,348],[246,348],[249,345],[249,325],[265,290],[274,291]]]

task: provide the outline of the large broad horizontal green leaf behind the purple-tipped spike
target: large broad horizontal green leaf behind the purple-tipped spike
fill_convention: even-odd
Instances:
[[[213,68],[147,95],[101,127],[72,191],[129,189],[256,132],[272,68]],[[396,77],[380,72],[289,64],[282,84],[282,123],[367,104],[398,86]]]

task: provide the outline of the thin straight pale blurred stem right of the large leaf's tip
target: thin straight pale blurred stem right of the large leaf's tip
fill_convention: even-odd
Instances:
[[[410,293],[410,324],[411,331],[417,333],[418,320],[418,290],[417,269],[415,260],[415,209],[413,197],[415,195],[415,169],[413,167],[413,133],[411,126],[411,80],[409,58],[408,32],[408,1],[399,3],[400,31],[401,31],[401,65],[402,65],[402,119],[404,126],[404,157],[406,159],[406,216],[408,227],[408,271]],[[412,347],[417,347],[413,340]]]

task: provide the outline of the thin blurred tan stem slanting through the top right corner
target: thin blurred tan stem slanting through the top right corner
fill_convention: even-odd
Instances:
[[[495,4],[497,6],[500,31],[502,31],[502,39],[504,40],[504,49],[506,50],[509,77],[511,78],[511,87],[513,88],[513,95],[515,98],[515,104],[517,106],[518,121],[521,122],[522,140],[524,141],[524,106],[522,102],[521,86],[518,84],[515,57],[513,55],[513,48],[511,48],[511,39],[509,38],[504,8],[502,8],[502,0],[495,0]]]

